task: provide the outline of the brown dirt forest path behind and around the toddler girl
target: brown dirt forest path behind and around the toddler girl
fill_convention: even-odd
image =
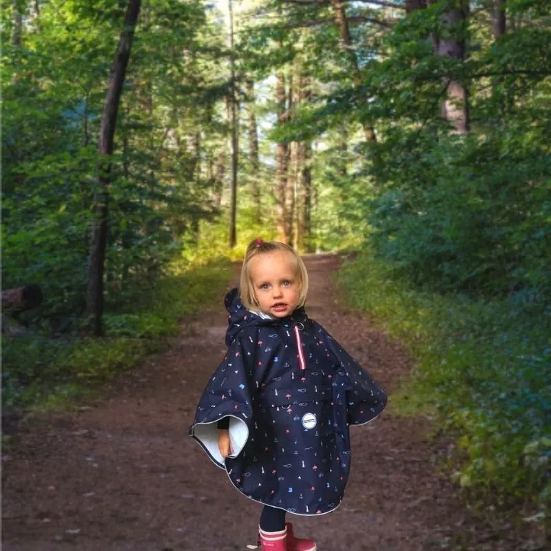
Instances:
[[[408,359],[339,303],[337,256],[305,258],[307,311],[383,388],[408,375]],[[221,301],[221,298],[220,298]],[[4,551],[234,551],[254,543],[260,506],[231,487],[187,430],[200,393],[225,354],[226,313],[198,315],[172,349],[116,379],[73,415],[21,427],[3,457]],[[424,418],[352,427],[353,461],[342,506],[293,517],[320,551],[518,551],[466,512],[445,475],[447,447],[426,439]]]

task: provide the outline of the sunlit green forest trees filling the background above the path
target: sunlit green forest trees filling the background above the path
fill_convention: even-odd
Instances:
[[[126,6],[4,7],[4,283],[79,311]],[[368,239],[442,291],[549,295],[547,2],[239,2],[233,48],[225,12],[141,6],[105,188],[107,297],[158,277],[202,221],[223,239],[234,203],[242,230],[303,251]]]

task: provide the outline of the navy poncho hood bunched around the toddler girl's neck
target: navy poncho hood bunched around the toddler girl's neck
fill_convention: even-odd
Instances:
[[[224,299],[224,305],[226,306],[226,310],[229,314],[228,329],[226,331],[227,346],[230,346],[236,339],[237,334],[247,327],[278,326],[282,323],[296,324],[299,322],[302,326],[305,326],[308,322],[308,317],[304,311],[304,306],[300,306],[295,309],[291,315],[288,315],[285,318],[264,317],[256,312],[247,310],[239,298],[239,289],[237,287],[227,292]]]

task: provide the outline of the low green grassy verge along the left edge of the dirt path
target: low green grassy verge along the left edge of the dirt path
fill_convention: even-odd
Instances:
[[[3,336],[3,406],[63,406],[87,389],[132,368],[148,353],[166,346],[178,321],[220,306],[231,278],[227,260],[174,271],[150,289],[134,289],[117,304],[107,304],[105,337]]]

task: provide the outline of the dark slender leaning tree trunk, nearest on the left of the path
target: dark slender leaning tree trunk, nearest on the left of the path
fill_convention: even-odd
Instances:
[[[105,244],[107,242],[107,201],[111,181],[111,156],[116,127],[118,103],[134,39],[134,28],[138,22],[141,0],[129,0],[125,13],[123,32],[118,41],[115,59],[111,67],[107,95],[103,105],[98,151],[103,156],[99,167],[99,190],[94,194],[94,215],[92,243],[90,246],[90,267],[86,291],[86,315],[92,322],[94,334],[101,335],[103,314],[103,271],[105,269]]]

